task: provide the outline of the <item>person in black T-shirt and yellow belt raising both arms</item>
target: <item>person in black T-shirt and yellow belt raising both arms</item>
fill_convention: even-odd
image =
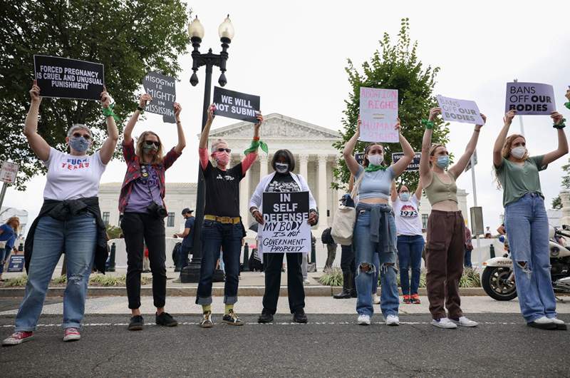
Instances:
[[[239,216],[239,181],[245,177],[247,170],[257,159],[259,145],[259,128],[263,116],[257,116],[258,123],[254,125],[254,138],[251,146],[244,151],[244,160],[229,168],[229,153],[232,150],[227,142],[218,139],[212,143],[210,157],[216,162],[212,165],[208,158],[208,136],[214,121],[215,106],[209,106],[208,118],[200,135],[199,158],[200,168],[206,184],[206,201],[204,207],[204,225],[202,226],[202,266],[198,284],[196,304],[202,305],[203,318],[200,326],[209,328],[214,325],[212,320],[212,277],[215,262],[219,256],[220,247],[224,248],[224,265],[226,282],[224,285],[224,317],[222,322],[229,325],[243,325],[234,312],[237,302],[237,287],[239,284],[239,256],[242,250],[242,238],[245,229]],[[262,144],[263,143],[263,144]]]

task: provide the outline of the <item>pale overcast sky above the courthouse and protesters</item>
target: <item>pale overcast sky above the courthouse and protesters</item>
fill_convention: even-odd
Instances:
[[[215,4],[215,6],[213,6]],[[204,25],[202,52],[219,51],[217,27],[230,14],[236,34],[229,48],[226,88],[261,96],[264,113],[282,113],[338,130],[344,100],[350,88],[344,67],[346,59],[360,66],[378,48],[383,32],[398,33],[400,19],[410,18],[411,36],[418,40],[418,55],[425,64],[439,66],[435,93],[477,101],[487,115],[478,146],[477,197],[484,223],[495,226],[502,213],[502,192],[492,183],[492,144],[502,127],[504,88],[507,81],[550,83],[556,106],[564,108],[564,93],[570,85],[570,4],[563,1],[350,1],[334,6],[331,1],[193,1],[192,9]],[[462,5],[465,4],[465,5]],[[564,47],[566,46],[566,48]],[[189,46],[189,50],[190,50]],[[182,121],[187,148],[167,173],[167,181],[195,182],[197,178],[197,133],[202,119],[204,69],[198,86],[190,86],[190,55],[180,56],[184,71],[177,83],[182,103]],[[212,76],[217,82],[219,71]],[[112,93],[111,93],[112,94]],[[135,104],[133,104],[133,108]],[[216,118],[214,128],[234,121]],[[419,126],[418,126],[419,127]],[[165,145],[176,143],[175,126],[163,124],[160,116],[148,115],[135,128],[160,134]],[[452,123],[447,146],[462,153],[472,126]],[[530,153],[556,148],[556,133],[546,116],[525,116],[524,130]],[[519,132],[515,118],[513,132]],[[548,205],[559,193],[562,158],[541,173]],[[108,165],[102,182],[120,182],[124,163]],[[35,217],[41,208],[45,178],[34,178],[25,193],[9,189],[4,206],[25,208]],[[462,175],[458,185],[472,193],[471,175]],[[472,195],[468,205],[472,205]]]

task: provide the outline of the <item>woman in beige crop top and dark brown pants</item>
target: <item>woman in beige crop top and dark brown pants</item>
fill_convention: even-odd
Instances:
[[[427,220],[425,262],[427,266],[426,288],[430,301],[432,325],[440,328],[476,327],[477,322],[467,319],[461,311],[459,280],[463,274],[465,252],[465,221],[457,207],[455,180],[465,170],[475,152],[482,125],[476,125],[465,153],[459,161],[447,169],[450,156],[445,145],[432,145],[435,117],[441,108],[432,108],[430,118],[423,121],[425,132],[420,160],[420,182],[432,205]],[[487,120],[481,114],[483,121]],[[445,314],[445,306],[449,317]]]

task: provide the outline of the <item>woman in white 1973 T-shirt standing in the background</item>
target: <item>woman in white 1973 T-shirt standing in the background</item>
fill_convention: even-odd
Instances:
[[[403,302],[419,305],[421,301],[418,287],[420,287],[424,247],[422,220],[420,219],[422,183],[419,182],[415,193],[410,195],[410,190],[406,185],[396,190],[395,182],[393,182],[391,197],[398,233],[398,261],[400,262],[400,287],[402,287]],[[412,269],[411,280],[410,267]]]

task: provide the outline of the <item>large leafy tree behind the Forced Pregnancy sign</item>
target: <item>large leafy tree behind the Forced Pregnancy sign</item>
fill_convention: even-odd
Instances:
[[[20,164],[16,187],[45,171],[22,133],[33,80],[33,54],[105,65],[105,85],[115,113],[126,118],[148,71],[177,76],[177,56],[188,43],[188,13],[180,0],[6,0],[0,14],[0,160]],[[85,123],[95,148],[105,135],[97,101],[43,98],[38,132],[63,150],[66,131]],[[121,128],[120,124],[118,124]]]

